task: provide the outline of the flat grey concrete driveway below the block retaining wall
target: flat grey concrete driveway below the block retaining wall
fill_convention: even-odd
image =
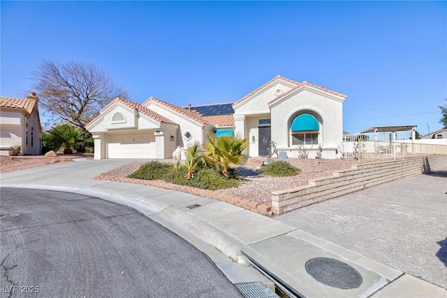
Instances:
[[[419,175],[275,217],[447,288],[447,176]]]

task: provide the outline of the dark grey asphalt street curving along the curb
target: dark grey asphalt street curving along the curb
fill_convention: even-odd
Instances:
[[[1,297],[241,297],[207,257],[133,208],[1,188]]]

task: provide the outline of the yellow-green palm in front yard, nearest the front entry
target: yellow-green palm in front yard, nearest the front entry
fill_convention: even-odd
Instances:
[[[231,166],[242,164],[244,150],[247,148],[247,140],[238,139],[235,136],[208,135],[209,142],[205,144],[205,159],[212,164],[222,175],[230,178],[228,171]]]

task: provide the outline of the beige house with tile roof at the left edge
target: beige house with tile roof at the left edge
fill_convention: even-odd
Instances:
[[[21,146],[20,155],[41,154],[42,127],[36,93],[27,99],[0,97],[0,155]]]

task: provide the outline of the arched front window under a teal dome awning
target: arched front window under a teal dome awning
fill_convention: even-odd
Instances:
[[[291,124],[292,145],[318,145],[320,123],[315,116],[303,113],[295,117]]]

